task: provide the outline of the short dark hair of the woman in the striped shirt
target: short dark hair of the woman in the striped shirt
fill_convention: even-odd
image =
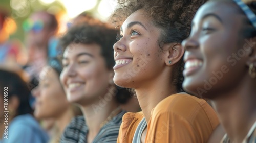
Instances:
[[[113,45],[116,42],[116,33],[118,31],[111,26],[84,24],[70,28],[60,41],[62,53],[70,44],[98,44],[101,47],[101,55],[106,61],[106,67],[113,69],[115,60],[113,58]]]

